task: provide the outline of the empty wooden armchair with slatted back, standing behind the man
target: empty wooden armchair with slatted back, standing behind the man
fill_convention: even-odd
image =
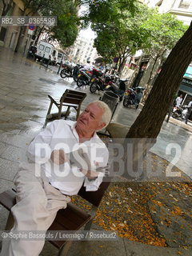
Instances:
[[[52,98],[50,95],[48,95],[48,97],[50,98],[50,106],[46,114],[46,118],[49,118],[50,110],[54,104],[55,106],[58,107],[58,115],[57,115],[58,119],[60,119],[62,116],[62,106],[67,106],[65,119],[70,114],[70,107],[73,107],[77,111],[77,116],[76,116],[76,120],[77,120],[80,114],[82,102],[84,98],[86,98],[86,93],[82,93],[78,90],[66,89],[65,93],[62,94],[62,97],[60,99]]]

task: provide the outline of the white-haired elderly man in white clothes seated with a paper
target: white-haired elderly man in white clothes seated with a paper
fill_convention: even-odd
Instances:
[[[34,138],[27,151],[29,162],[19,166],[15,179],[17,204],[11,209],[12,231],[46,232],[58,210],[66,208],[70,196],[78,194],[83,184],[86,190],[98,190],[109,153],[96,131],[110,118],[106,103],[92,102],[77,122],[51,122]],[[76,152],[77,162],[71,152]],[[11,239],[2,242],[1,255],[38,256],[43,246],[44,241]]]

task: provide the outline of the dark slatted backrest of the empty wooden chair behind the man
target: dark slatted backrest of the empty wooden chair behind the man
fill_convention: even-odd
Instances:
[[[82,103],[84,98],[86,98],[86,93],[82,93],[81,91],[78,91],[78,90],[66,89],[65,93],[62,94],[62,97],[60,98],[60,102],[79,105]]]

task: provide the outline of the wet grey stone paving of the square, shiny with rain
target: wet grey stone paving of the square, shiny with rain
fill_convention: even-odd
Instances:
[[[39,62],[36,63],[21,54],[14,54],[12,51],[0,47],[0,192],[14,186],[14,176],[18,170],[19,162],[25,160],[27,146],[45,125],[46,112],[50,104],[48,94],[60,98],[67,88],[86,91],[87,97],[82,103],[82,109],[87,103],[100,97],[98,94],[90,94],[88,87],[79,89],[72,79],[62,79],[57,74],[57,70],[58,67],[56,66],[50,66],[46,69],[39,65]],[[139,111],[126,109],[120,103],[112,122],[131,126]],[[70,119],[75,119],[73,110],[71,110]],[[157,143],[150,151],[174,163],[192,178],[191,142],[191,124],[186,126],[182,122],[170,118],[169,123],[163,123]],[[177,151],[169,150],[170,147],[176,147]],[[0,230],[3,230],[7,211],[2,206],[0,206],[0,211]],[[174,249],[173,252],[167,253],[164,248],[159,248],[159,252],[157,252],[155,246],[150,246],[151,252],[154,251],[154,253],[149,254],[145,245],[134,244],[134,242],[126,240],[121,238],[120,242],[117,242],[118,246],[122,244],[122,255],[178,255],[178,250]],[[106,245],[107,243],[104,247]],[[115,243],[108,242],[108,245],[114,248],[113,254],[119,253]],[[137,254],[134,250],[134,254],[131,254],[132,249],[127,249],[135,245],[142,254],[139,252]],[[85,247],[85,243],[77,246]],[[93,255],[105,253],[102,242],[98,242],[95,246],[98,248],[98,252]],[[52,251],[52,255],[56,254],[53,246],[46,248],[48,249],[44,250],[43,255],[48,255],[48,251]],[[90,250],[90,248],[86,246],[83,250]],[[73,252],[71,255],[74,255]],[[109,254],[106,253],[106,255]],[[184,250],[182,255],[190,254]]]

